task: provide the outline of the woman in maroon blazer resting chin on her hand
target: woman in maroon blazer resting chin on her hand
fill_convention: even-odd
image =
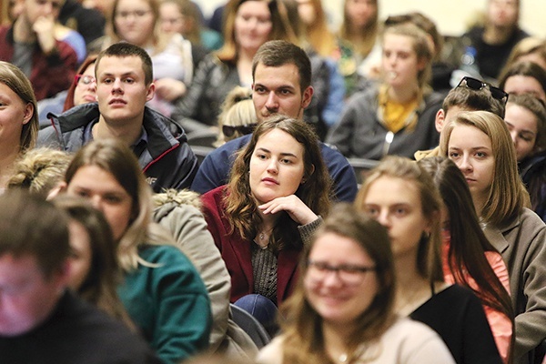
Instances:
[[[274,312],[292,292],[299,254],[329,212],[331,182],[318,146],[307,123],[273,116],[238,154],[228,184],[203,195],[231,275],[231,302],[242,298],[236,304],[248,308],[248,295],[259,295],[252,302]]]

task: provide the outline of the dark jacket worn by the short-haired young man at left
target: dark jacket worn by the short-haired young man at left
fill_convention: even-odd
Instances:
[[[38,147],[56,147],[76,152],[86,145],[85,130],[99,117],[96,103],[75,106],[60,116],[49,114],[52,126],[38,133]],[[133,150],[154,192],[163,188],[188,188],[197,173],[197,157],[187,145],[184,129],[149,107],[144,111],[147,142]]]

